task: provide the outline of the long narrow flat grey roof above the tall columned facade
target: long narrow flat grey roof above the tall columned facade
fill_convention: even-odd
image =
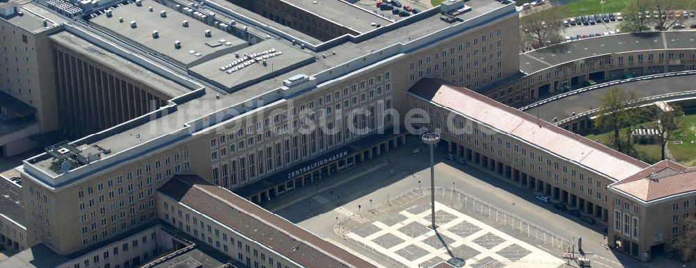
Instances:
[[[168,80],[157,74],[154,74],[147,69],[129,62],[120,56],[97,47],[95,44],[88,42],[72,33],[61,31],[49,36],[56,43],[64,47],[72,48],[75,53],[80,53],[83,56],[92,58],[100,65],[105,65],[116,72],[120,72],[123,76],[132,78],[139,83],[149,85],[153,89],[168,95],[171,98],[181,96],[191,92],[187,87],[179,85],[174,81]],[[93,63],[92,63],[93,64]]]

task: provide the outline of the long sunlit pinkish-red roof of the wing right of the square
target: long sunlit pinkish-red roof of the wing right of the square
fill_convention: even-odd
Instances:
[[[423,78],[408,91],[418,99],[457,112],[496,132],[516,137],[619,181],[649,165],[585,137],[532,117],[464,87],[436,78]]]

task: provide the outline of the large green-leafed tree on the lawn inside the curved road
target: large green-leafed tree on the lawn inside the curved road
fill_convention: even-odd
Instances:
[[[624,151],[621,129],[631,126],[638,114],[636,110],[633,110],[635,104],[632,102],[635,99],[638,99],[635,92],[626,92],[621,87],[612,87],[599,102],[595,124],[604,131],[612,131],[613,142],[619,152]]]

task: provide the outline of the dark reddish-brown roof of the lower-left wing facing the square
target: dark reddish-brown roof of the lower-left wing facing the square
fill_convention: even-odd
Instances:
[[[196,175],[177,175],[157,190],[304,267],[375,267],[241,196]]]

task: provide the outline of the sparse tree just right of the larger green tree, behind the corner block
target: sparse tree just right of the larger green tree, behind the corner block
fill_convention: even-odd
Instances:
[[[665,147],[674,135],[681,133],[684,112],[679,106],[666,106],[657,108],[651,127],[655,129],[662,149],[662,160],[665,160]]]

